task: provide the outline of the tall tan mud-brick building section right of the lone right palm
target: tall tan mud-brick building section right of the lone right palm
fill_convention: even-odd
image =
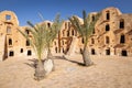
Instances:
[[[95,26],[89,52],[96,55],[132,56],[132,14],[107,8]]]

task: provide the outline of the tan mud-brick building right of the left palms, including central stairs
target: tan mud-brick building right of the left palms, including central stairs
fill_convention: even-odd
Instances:
[[[95,20],[95,14],[97,12],[90,13],[91,20]],[[82,19],[78,19],[82,23]],[[132,56],[131,19],[132,14],[121,13],[117,8],[103,9],[89,38],[89,53],[91,55]],[[72,55],[82,50],[84,40],[69,21],[64,22],[58,40],[56,53],[63,52]]]

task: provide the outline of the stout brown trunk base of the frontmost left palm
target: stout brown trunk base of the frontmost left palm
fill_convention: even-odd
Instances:
[[[42,61],[37,62],[34,76],[35,76],[35,78],[34,78],[35,80],[44,79],[45,70],[44,70],[44,65],[43,65]]]

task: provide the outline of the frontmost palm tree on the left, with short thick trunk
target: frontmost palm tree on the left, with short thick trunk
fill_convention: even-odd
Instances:
[[[22,32],[21,30],[19,30],[19,32],[30,42],[31,46],[33,47],[36,56],[37,56],[37,64],[36,64],[36,68],[35,68],[35,79],[40,80],[43,79],[45,77],[45,70],[43,67],[43,54],[45,51],[45,43],[46,43],[46,25],[33,25],[30,21],[28,21],[28,24],[30,25],[30,28],[28,29],[29,32],[31,33],[32,37],[29,36],[29,34]]]

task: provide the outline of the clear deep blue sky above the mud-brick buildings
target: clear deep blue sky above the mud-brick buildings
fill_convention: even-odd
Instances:
[[[132,0],[0,0],[0,11],[10,10],[18,15],[20,25],[41,22],[38,12],[44,20],[54,20],[57,13],[62,19],[76,14],[81,18],[81,11],[87,13],[116,7],[123,13],[132,13]]]

